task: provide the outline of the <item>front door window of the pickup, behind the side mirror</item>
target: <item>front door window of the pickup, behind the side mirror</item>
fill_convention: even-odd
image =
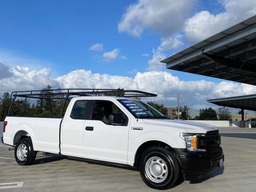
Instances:
[[[124,118],[124,125],[126,124],[128,117],[120,110],[114,103],[110,101],[96,101],[93,112],[92,120],[100,120],[106,124],[108,123],[108,116],[111,113],[120,113]]]

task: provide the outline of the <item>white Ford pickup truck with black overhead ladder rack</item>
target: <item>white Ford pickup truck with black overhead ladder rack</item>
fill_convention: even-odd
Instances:
[[[131,98],[154,94],[134,92],[121,92],[124,97],[67,92],[66,100],[79,97],[70,100],[64,117],[9,115],[2,142],[15,147],[20,165],[33,164],[37,151],[124,164],[139,168],[142,180],[155,189],[170,188],[180,174],[184,180],[201,179],[223,165],[216,127],[169,119]]]

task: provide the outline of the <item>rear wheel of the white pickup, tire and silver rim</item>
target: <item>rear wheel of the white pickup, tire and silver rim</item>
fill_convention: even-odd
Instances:
[[[32,140],[30,138],[20,139],[15,147],[15,159],[20,165],[30,165],[36,159],[37,151],[34,151]]]

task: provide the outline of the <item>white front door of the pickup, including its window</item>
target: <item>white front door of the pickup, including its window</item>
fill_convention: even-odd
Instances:
[[[111,113],[123,116],[123,125],[108,123]],[[88,159],[127,164],[129,118],[114,102],[97,100],[91,117],[84,123],[83,157]]]

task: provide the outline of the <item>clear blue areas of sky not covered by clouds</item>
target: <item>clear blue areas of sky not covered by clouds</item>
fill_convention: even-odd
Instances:
[[[137,1],[2,1],[1,49],[17,56],[44,61],[43,67],[52,69],[52,77],[76,69],[92,70],[93,73],[126,75],[126,71],[146,71],[152,48],[160,44],[160,36],[151,31],[138,39],[118,33],[117,24],[125,9]],[[214,6],[213,6],[214,5]],[[220,3],[201,1],[195,11],[223,10]],[[95,43],[103,43],[105,51],[120,49],[126,60],[113,63],[93,57],[102,52],[89,51]],[[188,44],[189,45],[189,44]],[[186,48],[186,44],[179,49]],[[167,56],[173,51],[167,52]],[[7,61],[8,62],[8,61]],[[10,63],[11,64],[11,63]],[[20,63],[27,66],[27,63]],[[31,66],[39,69],[42,66]],[[113,70],[115,68],[115,70]],[[202,76],[172,72],[182,80]],[[215,80],[215,79],[214,79]],[[219,81],[219,80],[215,80]]]

